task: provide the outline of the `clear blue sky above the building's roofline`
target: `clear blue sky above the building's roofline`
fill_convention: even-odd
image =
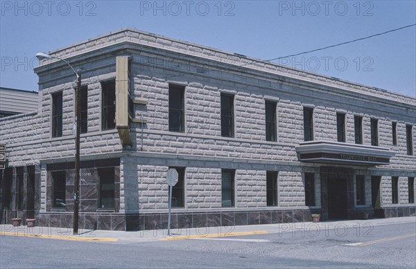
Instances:
[[[273,59],[416,23],[416,1],[0,1],[0,86],[37,91],[35,54],[130,27]],[[416,95],[416,27],[275,62]]]

